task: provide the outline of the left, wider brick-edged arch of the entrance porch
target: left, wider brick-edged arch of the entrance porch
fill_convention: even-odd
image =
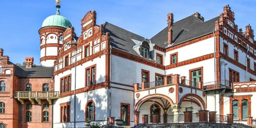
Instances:
[[[163,94],[151,94],[151,95],[147,95],[143,98],[141,98],[134,106],[134,111],[138,111],[138,108],[140,108],[140,106],[143,104],[143,102],[147,101],[148,99],[151,99],[151,98],[157,98],[157,97],[161,97],[161,98],[164,98],[166,99],[170,105],[174,104],[173,100],[170,99],[168,96],[166,95],[163,95]]]

